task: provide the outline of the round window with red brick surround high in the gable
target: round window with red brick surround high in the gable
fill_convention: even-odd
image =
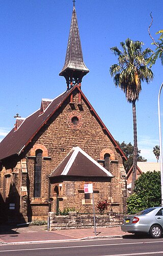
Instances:
[[[82,115],[74,111],[68,115],[67,122],[71,128],[79,129],[83,124]]]

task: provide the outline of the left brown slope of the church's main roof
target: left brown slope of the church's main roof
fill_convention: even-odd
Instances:
[[[70,93],[71,90],[66,91],[53,99],[43,113],[39,109],[26,117],[16,131],[13,128],[0,143],[0,160],[15,154],[19,155]]]

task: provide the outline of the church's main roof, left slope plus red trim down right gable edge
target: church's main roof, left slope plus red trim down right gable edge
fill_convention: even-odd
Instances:
[[[56,113],[56,111],[60,108],[60,106],[65,102],[65,100],[71,95],[74,90],[78,90],[80,92],[82,98],[85,100],[90,111],[96,117],[103,131],[105,131],[107,136],[111,139],[117,150],[120,152],[121,156],[127,159],[116,140],[107,130],[106,126],[97,115],[96,111],[93,109],[91,103],[88,101],[82,90],[80,90],[79,86],[76,84],[70,90],[53,99],[42,114],[40,114],[39,109],[29,117],[26,117],[16,131],[13,128],[11,132],[0,143],[0,160],[10,157],[12,155],[20,155],[24,148],[32,141],[34,136],[46,124],[50,117]]]

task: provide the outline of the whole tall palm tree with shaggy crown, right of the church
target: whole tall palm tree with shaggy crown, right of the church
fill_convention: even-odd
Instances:
[[[133,170],[132,170],[132,185],[131,193],[134,189],[134,181],[137,172],[137,115],[135,102],[139,99],[139,93],[142,90],[141,82],[147,83],[153,79],[153,73],[148,68],[149,57],[152,50],[147,48],[143,51],[143,42],[132,41],[127,38],[125,42],[120,43],[122,50],[117,47],[112,47],[111,51],[118,56],[118,63],[110,67],[111,76],[114,79],[116,87],[125,93],[126,99],[132,103],[132,116],[133,116]]]

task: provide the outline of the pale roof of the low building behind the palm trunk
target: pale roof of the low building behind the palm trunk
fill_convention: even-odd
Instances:
[[[127,173],[127,177],[130,176],[132,172],[133,165],[129,169]],[[140,174],[147,173],[147,172],[153,172],[154,170],[156,172],[160,172],[160,164],[155,162],[137,162],[137,170]]]

